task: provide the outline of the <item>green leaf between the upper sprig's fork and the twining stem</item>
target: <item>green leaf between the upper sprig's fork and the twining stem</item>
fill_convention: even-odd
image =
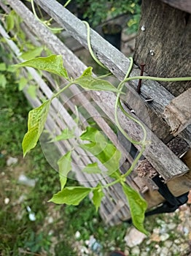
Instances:
[[[85,70],[85,74],[83,73],[79,78],[74,80],[74,83],[86,90],[120,92],[112,85],[112,83],[103,79],[93,78],[92,75],[88,75],[87,69]]]

